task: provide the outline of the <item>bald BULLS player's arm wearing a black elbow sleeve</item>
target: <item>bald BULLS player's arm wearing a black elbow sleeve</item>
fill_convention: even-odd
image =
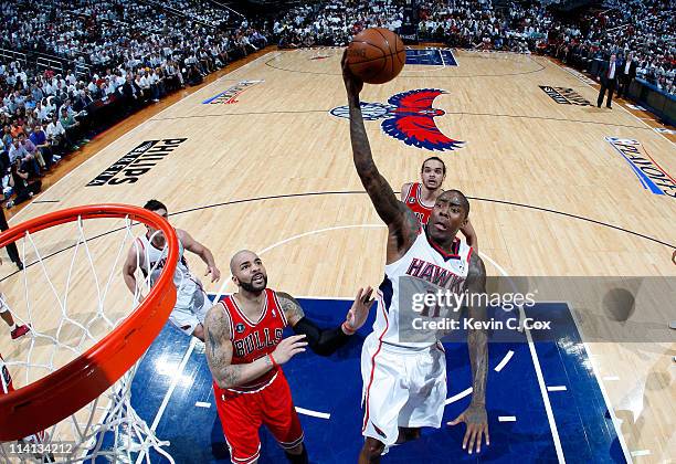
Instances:
[[[370,299],[372,293],[373,289],[371,287],[368,287],[366,291],[360,288],[357,298],[352,303],[352,307],[348,312],[346,321],[340,327],[331,329],[317,327],[315,323],[305,316],[296,298],[289,294],[277,293],[277,298],[284,310],[284,316],[294,331],[305,335],[309,347],[317,355],[329,356],[344,346],[350,335],[363,326],[369,315],[369,309],[373,304],[373,300]]]

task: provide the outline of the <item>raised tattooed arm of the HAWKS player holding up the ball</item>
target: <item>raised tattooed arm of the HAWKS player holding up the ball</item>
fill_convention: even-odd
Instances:
[[[411,210],[397,199],[392,187],[378,171],[376,162],[373,162],[359,103],[359,92],[361,92],[363,83],[350,72],[347,65],[347,52],[342,55],[341,64],[342,80],[348,94],[350,140],[357,173],[373,207],[376,207],[378,215],[388,224],[390,233],[394,233],[397,236],[398,251],[408,250],[418,236],[420,224]]]

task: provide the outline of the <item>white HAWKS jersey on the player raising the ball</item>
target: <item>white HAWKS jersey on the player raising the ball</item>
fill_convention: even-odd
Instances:
[[[416,349],[433,345],[436,340],[430,340],[430,334],[411,330],[411,320],[416,316],[412,310],[411,295],[439,289],[463,294],[471,256],[472,247],[460,239],[453,242],[452,252],[446,253],[423,231],[401,259],[387,264],[377,294],[378,312],[373,323],[373,335],[379,342]],[[411,307],[401,308],[401,304]],[[404,327],[400,327],[400,323]]]

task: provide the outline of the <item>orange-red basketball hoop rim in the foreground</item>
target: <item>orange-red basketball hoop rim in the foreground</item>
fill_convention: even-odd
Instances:
[[[169,318],[176,304],[173,273],[179,260],[178,236],[169,222],[152,211],[119,203],[54,211],[0,233],[0,247],[29,232],[78,219],[106,218],[129,218],[160,230],[169,245],[167,265],[142,303],[93,347],[54,372],[0,396],[0,441],[20,440],[45,430],[92,402],[134,366]]]

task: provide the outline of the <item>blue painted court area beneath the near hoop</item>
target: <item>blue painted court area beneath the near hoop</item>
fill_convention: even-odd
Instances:
[[[332,299],[300,303],[306,314],[324,327],[339,324],[351,304]],[[625,462],[567,305],[539,304],[528,309],[527,316],[557,319],[558,338],[557,341],[535,338],[532,346],[526,339],[490,344],[487,392],[490,446],[479,455],[467,455],[462,450],[464,425],[443,425],[439,430],[423,430],[419,441],[393,447],[382,458],[383,463],[553,463],[558,462],[557,446],[569,463]],[[357,461],[362,443],[359,359],[361,341],[370,327],[367,324],[347,347],[329,358],[305,352],[284,367],[296,407],[318,415],[330,414],[328,419],[300,414],[313,463]],[[471,387],[467,346],[457,342],[446,344],[445,348],[451,401],[444,423],[460,414],[471,400],[466,392]],[[537,362],[541,382],[536,373]],[[168,325],[150,347],[134,382],[133,404],[148,425],[158,415],[173,379],[178,380],[176,389],[161,413],[157,435],[171,442],[168,451],[178,463],[230,462],[202,345],[190,348],[190,339]],[[551,407],[549,418],[546,401]],[[261,439],[261,464],[286,462],[265,429]],[[151,462],[166,460],[152,453]]]

